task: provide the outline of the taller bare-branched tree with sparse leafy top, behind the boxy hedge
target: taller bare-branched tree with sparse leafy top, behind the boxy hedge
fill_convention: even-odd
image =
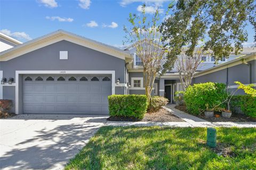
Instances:
[[[153,18],[148,21],[145,14],[145,5],[142,7],[142,14],[130,14],[129,22],[131,29],[124,27],[127,33],[127,41],[133,43],[137,49],[137,55],[143,64],[143,84],[145,84],[145,94],[150,100],[154,81],[157,73],[161,72],[165,62],[166,51],[162,45],[162,33],[159,32],[159,14],[156,10]]]

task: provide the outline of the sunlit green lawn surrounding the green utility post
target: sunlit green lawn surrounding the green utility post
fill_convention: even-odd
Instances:
[[[256,169],[255,128],[217,128],[217,142],[235,157],[205,142],[206,128],[106,126],[65,169]]]

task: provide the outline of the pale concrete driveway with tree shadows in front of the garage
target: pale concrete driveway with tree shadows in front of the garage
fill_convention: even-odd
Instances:
[[[18,115],[0,120],[0,169],[62,169],[106,116]]]

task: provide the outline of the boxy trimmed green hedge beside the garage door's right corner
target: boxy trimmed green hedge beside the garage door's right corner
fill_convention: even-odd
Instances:
[[[142,119],[147,112],[146,95],[111,95],[108,96],[109,115]]]

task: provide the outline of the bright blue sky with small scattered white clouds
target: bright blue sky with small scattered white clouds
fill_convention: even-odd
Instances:
[[[146,3],[146,12],[159,6],[164,18],[169,0],[0,0],[0,31],[22,42],[63,29],[101,43],[122,47],[125,40],[123,25],[129,25],[129,13],[140,13]],[[253,42],[252,25],[246,27]]]

